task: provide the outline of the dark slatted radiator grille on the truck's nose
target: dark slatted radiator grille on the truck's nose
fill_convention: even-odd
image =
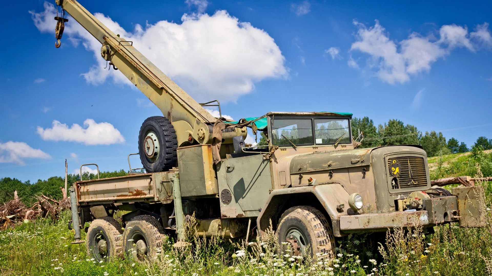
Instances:
[[[400,163],[400,176],[398,177],[398,187],[393,189],[403,189],[410,187],[427,186],[426,164],[422,157],[393,157],[388,159],[388,171],[391,176],[391,161],[398,160]],[[410,165],[412,177],[410,177]]]

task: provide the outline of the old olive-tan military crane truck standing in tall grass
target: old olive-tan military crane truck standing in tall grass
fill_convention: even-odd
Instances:
[[[164,234],[180,239],[193,214],[206,236],[242,237],[255,227],[262,234],[272,221],[293,254],[310,246],[311,254],[331,256],[335,239],[348,233],[454,221],[484,225],[483,192],[467,182],[469,187],[453,193],[432,188],[420,146],[358,149],[350,113],[215,118],[202,107],[214,101],[194,101],[77,1],[56,2],[62,8],[55,18],[56,46],[66,11],[102,44],[109,65],[164,115],[146,119],[140,129],[147,173],[79,181],[70,189],[76,243],[83,242],[81,228],[90,222],[85,242],[97,260],[123,252],[152,255]],[[264,134],[259,145],[246,146],[246,127]]]

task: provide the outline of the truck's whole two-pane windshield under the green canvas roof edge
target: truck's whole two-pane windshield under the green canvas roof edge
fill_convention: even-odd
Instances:
[[[313,131],[314,130],[314,131]],[[314,137],[313,137],[314,136]],[[350,143],[349,119],[281,118],[272,119],[272,143],[277,146]]]

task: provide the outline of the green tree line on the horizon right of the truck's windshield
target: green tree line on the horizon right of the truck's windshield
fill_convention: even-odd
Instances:
[[[484,136],[468,148],[464,142],[452,137],[448,140],[441,132],[425,132],[422,134],[417,127],[404,124],[398,119],[390,119],[377,127],[369,117],[352,118],[352,137],[362,139],[362,147],[413,144],[421,145],[427,156],[438,156],[451,153],[464,153],[470,150],[481,151],[492,149],[492,139]]]

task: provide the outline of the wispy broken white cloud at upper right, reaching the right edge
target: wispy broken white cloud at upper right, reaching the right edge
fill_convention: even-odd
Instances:
[[[489,25],[478,25],[475,32],[468,33],[466,27],[444,25],[439,29],[439,39],[433,36],[423,36],[413,32],[407,39],[400,42],[390,40],[379,22],[376,20],[373,27],[367,28],[364,24],[354,21],[358,31],[356,41],[352,43],[350,51],[359,51],[368,54],[367,60],[370,70],[375,70],[379,79],[387,83],[405,83],[410,75],[422,71],[429,71],[431,64],[437,59],[449,55],[455,48],[466,48],[475,52],[476,43],[488,45],[490,38]],[[355,60],[349,60],[351,67],[357,68]]]

